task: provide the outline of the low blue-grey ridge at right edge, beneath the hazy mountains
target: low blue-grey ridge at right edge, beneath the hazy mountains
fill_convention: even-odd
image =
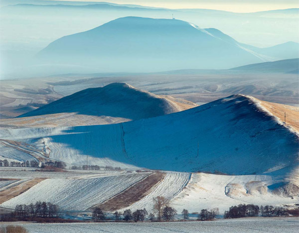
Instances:
[[[296,73],[299,69],[299,58],[287,59],[275,62],[264,62],[230,69],[243,72],[265,72],[265,73]]]

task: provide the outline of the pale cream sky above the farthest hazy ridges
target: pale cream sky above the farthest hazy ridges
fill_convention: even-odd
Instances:
[[[101,0],[76,0],[101,1]],[[139,4],[166,8],[207,8],[234,12],[298,8],[299,0],[102,0],[119,4]]]

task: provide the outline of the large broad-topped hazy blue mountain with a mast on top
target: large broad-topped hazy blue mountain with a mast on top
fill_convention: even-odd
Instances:
[[[209,31],[176,19],[124,17],[64,36],[40,51],[37,58],[47,64],[123,72],[227,69],[266,61]]]

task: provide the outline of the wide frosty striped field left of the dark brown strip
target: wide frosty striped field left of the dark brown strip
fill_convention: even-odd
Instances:
[[[61,210],[86,210],[100,204],[138,182],[148,173],[115,175],[87,179],[46,179],[28,191],[4,202],[3,207],[46,201]]]

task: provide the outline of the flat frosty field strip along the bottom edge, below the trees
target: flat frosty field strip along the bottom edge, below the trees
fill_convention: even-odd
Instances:
[[[176,223],[18,223],[17,225],[26,228],[29,233],[297,233],[299,218],[246,218]]]

